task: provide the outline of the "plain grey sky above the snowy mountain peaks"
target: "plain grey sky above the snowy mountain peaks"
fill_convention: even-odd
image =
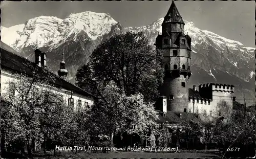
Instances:
[[[164,17],[171,1],[1,2],[1,25],[11,27],[45,15],[65,18],[84,11],[110,13],[124,27],[141,27]],[[182,18],[196,27],[255,48],[254,1],[176,1]]]

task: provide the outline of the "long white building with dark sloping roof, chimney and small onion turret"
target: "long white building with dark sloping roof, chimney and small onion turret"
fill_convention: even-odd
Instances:
[[[46,53],[36,49],[35,62],[31,62],[1,48],[1,94],[3,95],[7,92],[10,83],[15,83],[15,81],[18,80],[17,75],[25,74],[28,77],[32,77],[34,70],[42,69],[44,73],[46,73],[46,76],[54,77],[54,83],[51,83],[54,86],[51,86],[50,89],[62,95],[68,105],[74,107],[74,109],[77,107],[91,107],[96,97],[66,80],[68,71],[65,69],[63,57],[60,62],[58,75],[55,75],[47,69],[46,57]],[[48,88],[48,86],[44,87]]]

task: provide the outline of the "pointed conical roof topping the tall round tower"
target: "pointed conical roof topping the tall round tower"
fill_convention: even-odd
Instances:
[[[172,5],[170,5],[169,10],[164,17],[163,23],[164,22],[180,22],[180,23],[184,24],[184,21],[180,15],[178,9],[176,8],[174,1],[173,1]]]

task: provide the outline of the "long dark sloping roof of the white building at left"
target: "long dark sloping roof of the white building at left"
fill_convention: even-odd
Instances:
[[[19,74],[24,73],[26,75],[32,76],[34,74],[33,71],[35,67],[38,67],[38,66],[34,62],[31,62],[24,57],[18,56],[16,54],[13,54],[1,48],[1,67],[11,72],[15,72]],[[46,72],[49,75],[53,75],[55,77],[55,81],[53,84],[56,87],[72,90],[73,92],[83,96],[96,98],[94,95],[90,94],[86,90],[83,90],[75,86],[74,84],[69,83],[68,81],[60,78],[59,76],[55,75],[51,71],[44,69],[44,72]]]

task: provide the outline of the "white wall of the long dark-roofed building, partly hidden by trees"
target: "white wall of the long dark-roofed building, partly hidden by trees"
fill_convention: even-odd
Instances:
[[[17,79],[11,74],[9,71],[1,71],[1,94],[5,94],[7,92],[7,88],[9,86],[9,82],[15,82]],[[47,86],[45,86],[47,88]],[[67,89],[63,88],[57,88],[57,87],[52,87],[52,91],[55,93],[58,93],[63,96],[63,99],[67,102],[68,104],[68,99],[71,97],[71,92]],[[82,106],[87,102],[89,106],[93,105],[94,100],[93,98],[86,97],[77,93],[72,93],[72,98],[74,98],[74,108],[76,109],[78,100],[82,101]]]

